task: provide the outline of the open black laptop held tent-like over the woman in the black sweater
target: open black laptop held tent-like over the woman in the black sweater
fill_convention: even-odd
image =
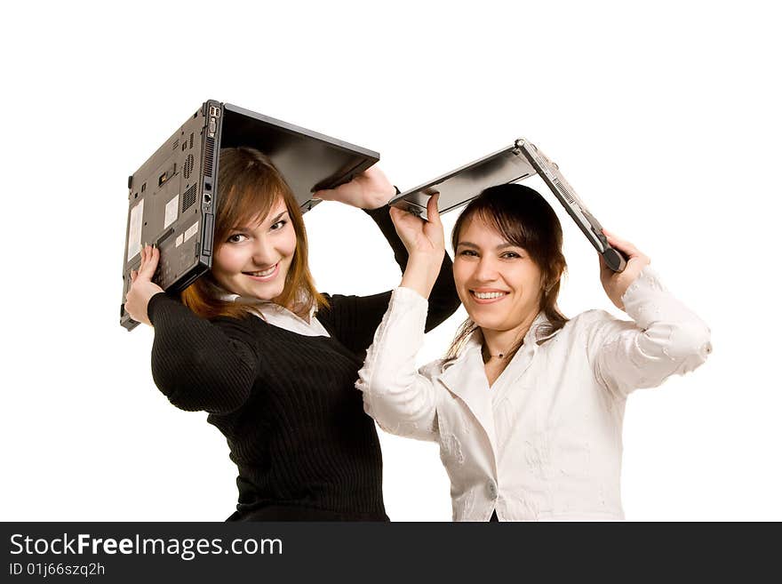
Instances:
[[[291,187],[302,212],[320,203],[316,190],[334,188],[379,161],[380,155],[345,141],[208,100],[128,178],[120,324],[139,323],[124,310],[131,271],[143,244],[156,244],[153,281],[181,292],[211,268],[217,209],[219,150],[245,146],[267,155]]]

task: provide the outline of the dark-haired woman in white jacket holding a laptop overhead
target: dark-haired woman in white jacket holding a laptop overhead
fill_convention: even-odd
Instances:
[[[562,227],[531,188],[488,188],[453,230],[453,275],[469,318],[448,355],[416,371],[427,296],[443,259],[435,197],[429,222],[392,209],[410,252],[356,387],[388,432],[440,443],[457,521],[623,518],[622,419],[634,388],[690,372],[709,329],[676,300],[634,245],[602,263],[610,300],[572,319],[556,307]]]

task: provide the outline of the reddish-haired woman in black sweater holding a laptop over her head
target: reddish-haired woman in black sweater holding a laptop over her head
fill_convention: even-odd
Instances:
[[[317,292],[299,206],[275,167],[251,148],[221,151],[220,167],[210,272],[174,299],[151,282],[158,252],[145,246],[132,275],[125,308],[155,327],[156,385],[226,436],[239,470],[230,519],[387,520],[378,436],[354,383],[390,292]],[[316,195],[369,209],[405,267],[382,172]],[[447,255],[429,305],[427,330],[459,306]]]

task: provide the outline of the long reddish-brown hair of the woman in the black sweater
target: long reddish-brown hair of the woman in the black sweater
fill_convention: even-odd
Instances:
[[[274,164],[254,148],[222,148],[219,153],[217,213],[214,228],[214,252],[226,242],[231,229],[237,225],[266,219],[280,199],[285,203],[291,224],[296,232],[296,249],[283,292],[273,301],[305,316],[316,304],[327,305],[325,298],[315,290],[315,283],[307,263],[307,232],[299,204]],[[214,258],[214,255],[212,255]],[[203,318],[251,314],[251,306],[219,300],[219,286],[207,272],[182,291],[182,303]]]

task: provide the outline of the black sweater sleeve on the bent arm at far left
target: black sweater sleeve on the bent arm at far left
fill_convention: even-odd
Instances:
[[[149,300],[155,327],[152,377],[182,410],[228,413],[250,396],[259,359],[257,342],[235,318],[210,322],[164,293]]]

